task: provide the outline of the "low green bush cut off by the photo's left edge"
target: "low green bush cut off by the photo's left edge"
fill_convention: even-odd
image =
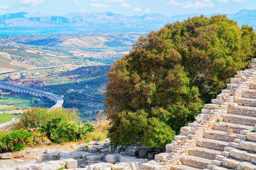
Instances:
[[[0,153],[19,151],[27,146],[34,146],[43,137],[40,133],[29,133],[27,130],[14,130],[11,132],[0,133]]]

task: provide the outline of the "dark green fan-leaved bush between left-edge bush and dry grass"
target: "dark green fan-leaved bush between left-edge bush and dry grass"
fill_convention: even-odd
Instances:
[[[39,131],[46,133],[47,138],[53,143],[79,141],[85,139],[89,133],[88,126],[75,124],[63,118],[52,118],[46,125],[40,125]]]

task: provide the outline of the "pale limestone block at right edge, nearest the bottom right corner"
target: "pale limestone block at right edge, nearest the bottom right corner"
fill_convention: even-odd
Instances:
[[[229,155],[232,158],[245,160],[247,162],[256,163],[256,154],[255,152],[247,152],[245,150],[231,149],[229,150]]]

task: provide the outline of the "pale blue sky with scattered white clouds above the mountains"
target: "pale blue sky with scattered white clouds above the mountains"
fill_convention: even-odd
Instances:
[[[42,12],[64,15],[70,12],[105,12],[124,15],[160,13],[234,14],[240,10],[256,10],[256,0],[0,0],[0,14]]]

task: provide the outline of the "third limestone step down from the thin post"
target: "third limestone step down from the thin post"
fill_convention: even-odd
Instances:
[[[233,130],[233,133],[240,133],[241,130],[253,130],[253,126],[233,124],[229,122],[216,122],[213,124],[212,129],[228,131]]]

